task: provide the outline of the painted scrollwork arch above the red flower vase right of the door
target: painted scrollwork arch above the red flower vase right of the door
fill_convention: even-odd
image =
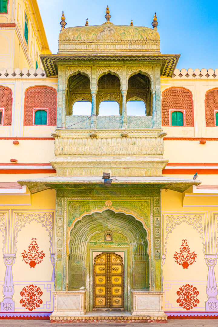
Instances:
[[[165,263],[165,257],[167,253],[167,238],[169,237],[169,234],[173,231],[173,229],[176,227],[176,225],[180,225],[183,221],[186,222],[188,225],[192,225],[193,228],[200,233],[200,237],[202,239],[202,244],[203,244],[203,253],[206,254],[205,252],[205,239],[203,237],[203,219],[205,219],[204,214],[202,215],[163,215],[163,220],[166,220],[166,228],[165,228],[165,234],[166,237],[163,240],[163,265]],[[164,233],[163,233],[164,235]]]

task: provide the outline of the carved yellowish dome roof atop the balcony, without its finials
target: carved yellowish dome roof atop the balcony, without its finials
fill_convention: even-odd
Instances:
[[[143,26],[102,24],[63,29],[59,53],[75,52],[159,52],[157,29]]]

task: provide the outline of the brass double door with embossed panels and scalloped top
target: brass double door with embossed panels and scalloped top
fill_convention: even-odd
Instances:
[[[124,307],[124,271],[120,255],[104,252],[94,258],[94,308]]]

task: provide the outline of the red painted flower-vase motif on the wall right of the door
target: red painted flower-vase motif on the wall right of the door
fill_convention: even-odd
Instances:
[[[174,258],[178,265],[182,265],[183,269],[188,269],[189,265],[192,265],[197,258],[197,254],[193,252],[190,253],[190,247],[187,244],[187,240],[182,240],[182,245],[180,247],[180,253],[176,252]]]

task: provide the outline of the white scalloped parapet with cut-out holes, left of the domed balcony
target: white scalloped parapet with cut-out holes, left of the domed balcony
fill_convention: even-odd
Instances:
[[[42,68],[0,68],[0,78],[46,78]]]

